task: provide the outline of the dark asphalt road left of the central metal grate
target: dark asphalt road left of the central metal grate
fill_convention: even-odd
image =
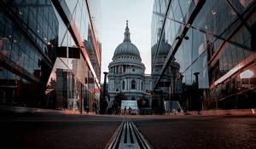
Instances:
[[[122,117],[0,114],[0,148],[104,148]]]

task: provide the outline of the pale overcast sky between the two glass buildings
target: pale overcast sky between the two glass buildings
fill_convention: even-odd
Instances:
[[[145,73],[151,73],[151,18],[154,0],[102,0],[102,80],[114,49],[124,40],[129,20],[131,43],[139,49]],[[108,80],[107,80],[108,81]]]

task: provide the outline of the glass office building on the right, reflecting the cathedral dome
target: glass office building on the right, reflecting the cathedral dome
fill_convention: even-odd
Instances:
[[[255,9],[253,0],[155,0],[155,93],[175,62],[180,67],[169,75],[174,83],[167,100],[178,100],[187,110],[255,107]],[[157,61],[166,45],[160,66]]]

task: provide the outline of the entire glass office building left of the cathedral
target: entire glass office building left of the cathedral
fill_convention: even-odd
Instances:
[[[7,0],[0,15],[0,105],[96,111],[100,1]]]

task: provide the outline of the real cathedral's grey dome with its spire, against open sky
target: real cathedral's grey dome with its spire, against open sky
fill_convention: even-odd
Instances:
[[[141,59],[139,50],[133,43],[131,43],[128,21],[126,22],[125,39],[123,43],[120,43],[114,50],[113,58],[119,55],[132,55]]]

